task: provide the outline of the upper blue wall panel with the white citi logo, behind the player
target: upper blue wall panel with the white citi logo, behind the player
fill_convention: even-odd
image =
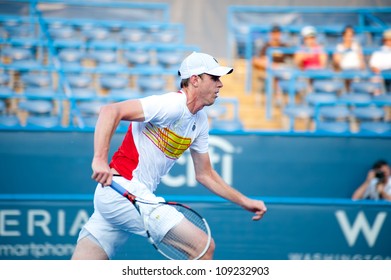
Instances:
[[[111,153],[123,134],[116,134]],[[378,158],[391,160],[389,138],[268,134],[212,135],[214,167],[247,195],[349,198]],[[0,132],[0,193],[91,194],[93,134]],[[189,153],[158,192],[210,195],[194,181]]]

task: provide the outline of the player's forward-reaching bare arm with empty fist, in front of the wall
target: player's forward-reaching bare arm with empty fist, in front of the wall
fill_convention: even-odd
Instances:
[[[259,220],[266,213],[266,206],[261,200],[250,199],[238,190],[229,186],[212,168],[208,153],[197,153],[191,150],[197,181],[213,193],[221,196],[244,209],[253,212],[253,220]]]

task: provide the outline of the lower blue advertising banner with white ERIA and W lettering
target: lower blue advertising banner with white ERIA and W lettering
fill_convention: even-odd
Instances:
[[[268,213],[254,222],[231,203],[192,201],[211,227],[216,259],[391,259],[391,204],[265,199]],[[92,200],[1,200],[0,259],[69,259],[92,211]],[[116,259],[163,257],[135,236]]]

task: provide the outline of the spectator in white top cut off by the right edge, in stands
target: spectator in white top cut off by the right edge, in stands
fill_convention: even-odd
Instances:
[[[375,74],[391,72],[391,29],[384,31],[383,45],[371,55],[369,66]],[[385,86],[387,91],[391,91],[391,79],[385,79]]]

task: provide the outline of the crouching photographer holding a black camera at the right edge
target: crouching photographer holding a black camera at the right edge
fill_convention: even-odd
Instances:
[[[353,193],[352,199],[384,199],[391,201],[391,170],[385,160],[378,160],[369,170],[364,183]]]

